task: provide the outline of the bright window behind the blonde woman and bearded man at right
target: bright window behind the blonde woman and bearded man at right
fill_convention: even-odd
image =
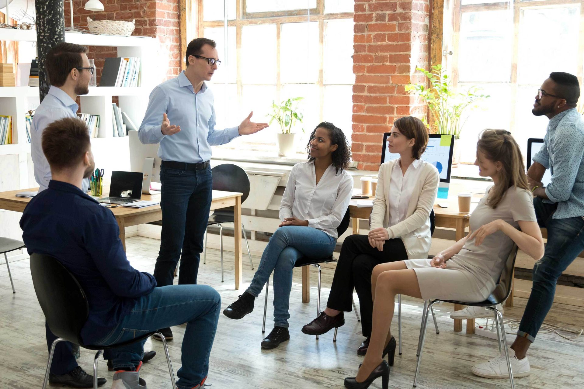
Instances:
[[[580,80],[584,64],[584,9],[581,0],[451,0],[453,23],[445,24],[447,57],[459,87],[478,85],[491,97],[479,103],[461,136],[463,162],[475,159],[485,128],[512,132],[525,156],[528,138],[543,138],[548,120],[531,114],[537,89],[551,72]],[[450,31],[448,30],[450,29]],[[580,99],[582,100],[582,99]]]

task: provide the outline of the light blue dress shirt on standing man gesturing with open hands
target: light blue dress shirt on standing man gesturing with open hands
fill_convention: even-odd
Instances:
[[[211,146],[223,145],[239,136],[238,127],[215,129],[213,93],[203,83],[194,93],[185,72],[152,90],[138,137],[144,144],[160,143],[158,156],[164,161],[199,163],[211,159]],[[171,125],[180,126],[174,135],[162,135],[162,114]]]

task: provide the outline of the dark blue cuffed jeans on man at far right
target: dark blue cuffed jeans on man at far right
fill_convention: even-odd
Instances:
[[[584,250],[584,219],[581,217],[552,219],[557,204],[547,204],[541,198],[533,201],[537,222],[547,228],[547,244],[541,260],[533,267],[531,295],[519,324],[517,335],[536,340],[545,316],[554,302],[555,284],[562,272]]]

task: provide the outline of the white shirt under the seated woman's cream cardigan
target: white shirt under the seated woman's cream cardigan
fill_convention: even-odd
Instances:
[[[405,174],[402,174],[399,162],[396,162],[394,168],[391,170],[390,198],[388,198],[390,226],[395,226],[406,218],[409,201],[412,199],[413,188],[422,172],[422,169],[418,169],[421,163],[421,159],[416,159],[408,166]]]

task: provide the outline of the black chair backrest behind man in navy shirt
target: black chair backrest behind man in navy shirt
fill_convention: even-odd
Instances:
[[[89,304],[75,276],[56,258],[37,253],[30,255],[30,274],[51,332],[82,345],[81,328],[89,316]]]

